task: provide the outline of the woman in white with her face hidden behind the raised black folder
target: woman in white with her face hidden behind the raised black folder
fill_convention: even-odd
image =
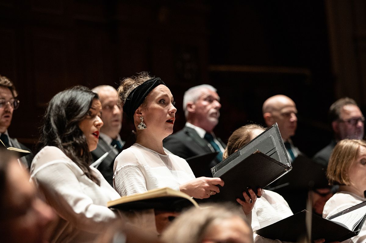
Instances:
[[[248,124],[236,129],[229,137],[225,148],[223,159],[226,159],[241,147],[248,144],[256,136],[265,131],[265,128],[257,124]],[[293,215],[286,200],[278,193],[270,190],[262,190],[261,198],[254,204],[251,215],[251,227],[253,231],[276,223],[284,218]],[[263,238],[253,234],[255,243],[280,243],[280,240]],[[315,243],[322,243],[325,239],[315,240]],[[335,242],[333,242],[335,243]]]

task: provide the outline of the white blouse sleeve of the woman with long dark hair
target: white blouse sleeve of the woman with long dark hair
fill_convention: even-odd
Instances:
[[[53,161],[43,165],[32,174],[31,180],[45,194],[48,203],[59,216],[76,228],[95,233],[108,227],[117,218],[107,205],[93,203],[93,199],[84,193],[85,189],[65,161]]]

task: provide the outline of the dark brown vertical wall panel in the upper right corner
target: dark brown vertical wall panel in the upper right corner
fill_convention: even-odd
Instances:
[[[349,96],[366,107],[365,3],[362,0],[327,0],[332,72],[337,98]]]

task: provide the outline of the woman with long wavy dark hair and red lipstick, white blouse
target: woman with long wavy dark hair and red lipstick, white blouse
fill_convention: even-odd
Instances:
[[[94,242],[117,218],[106,206],[118,193],[89,167],[101,109],[98,95],[83,86],[57,93],[48,104],[31,181],[59,216],[52,242]]]

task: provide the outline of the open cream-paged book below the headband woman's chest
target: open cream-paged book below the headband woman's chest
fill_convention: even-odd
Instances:
[[[183,208],[192,206],[198,207],[198,204],[190,196],[167,187],[124,196],[107,203],[108,208],[116,208],[122,211],[150,208],[166,211],[181,211]]]

